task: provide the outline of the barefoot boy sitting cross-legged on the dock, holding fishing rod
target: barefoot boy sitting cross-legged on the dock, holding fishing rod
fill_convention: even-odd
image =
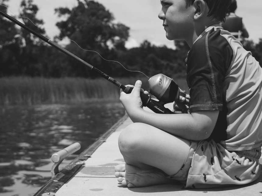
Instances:
[[[186,40],[188,114],[143,110],[141,81],[120,100],[134,122],[119,136],[127,187],[181,181],[186,188],[247,184],[260,175],[262,69],[224,31],[228,0],[161,0],[169,40]]]

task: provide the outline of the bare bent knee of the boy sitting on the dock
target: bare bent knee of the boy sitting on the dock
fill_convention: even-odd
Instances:
[[[141,124],[142,123],[132,123],[122,130],[118,139],[121,153],[134,153],[139,149],[143,141],[143,136],[141,136]]]

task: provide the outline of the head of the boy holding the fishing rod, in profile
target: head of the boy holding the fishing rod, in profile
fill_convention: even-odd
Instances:
[[[160,0],[158,17],[168,40],[193,40],[211,25],[225,20],[231,0]]]

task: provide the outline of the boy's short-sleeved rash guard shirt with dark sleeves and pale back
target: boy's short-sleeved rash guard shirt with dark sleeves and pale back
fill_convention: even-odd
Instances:
[[[190,111],[219,110],[210,136],[228,150],[262,145],[262,68],[222,27],[208,27],[187,57]]]

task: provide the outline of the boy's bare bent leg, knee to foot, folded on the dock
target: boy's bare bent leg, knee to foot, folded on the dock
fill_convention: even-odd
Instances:
[[[165,183],[166,174],[174,175],[181,169],[190,144],[190,141],[156,127],[133,123],[119,136],[119,149],[126,161],[126,168],[117,166],[119,172],[116,172],[116,176],[129,187]]]

